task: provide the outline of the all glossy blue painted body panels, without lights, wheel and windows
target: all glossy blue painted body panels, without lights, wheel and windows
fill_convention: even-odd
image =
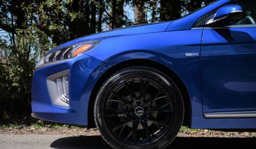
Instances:
[[[203,116],[209,112],[256,111],[256,28],[191,29],[199,18],[229,2],[216,1],[172,22],[100,32],[53,49],[102,40],[84,54],[35,70],[34,117],[88,125],[88,104],[100,77],[116,64],[143,59],[163,64],[180,77],[189,93],[192,128],[256,128],[256,118]],[[70,107],[52,104],[46,85],[47,77],[64,70],[69,70]]]

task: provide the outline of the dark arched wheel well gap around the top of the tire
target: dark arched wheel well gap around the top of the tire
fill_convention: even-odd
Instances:
[[[115,66],[111,67],[109,70],[107,70],[101,77],[98,79],[97,83],[95,84],[94,88],[92,89],[92,93],[89,99],[89,105],[88,105],[88,128],[95,128],[95,121],[94,121],[94,101],[96,98],[96,95],[98,93],[98,90],[100,89],[101,85],[106,81],[108,77],[110,77],[113,73],[117,72],[118,70],[121,70],[125,67],[130,66],[148,66],[152,67],[154,69],[158,69],[161,72],[165,73],[167,76],[169,76],[178,86],[180,89],[180,92],[182,93],[184,106],[185,106],[185,117],[183,121],[183,126],[191,126],[191,101],[189,98],[188,90],[186,89],[184,83],[179,78],[179,76],[176,75],[170,68],[167,66],[158,63],[156,61],[152,60],[146,60],[146,59],[133,59],[121,62],[119,64],[116,64]]]

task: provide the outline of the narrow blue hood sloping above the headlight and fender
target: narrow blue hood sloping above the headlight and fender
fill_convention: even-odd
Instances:
[[[84,42],[84,41],[101,40],[101,39],[106,39],[110,37],[145,34],[145,33],[152,33],[152,32],[164,32],[168,28],[170,23],[171,21],[160,22],[160,23],[150,23],[150,24],[143,24],[143,25],[134,25],[134,26],[129,26],[125,28],[112,29],[110,31],[99,32],[99,33],[87,35],[84,37],[80,37],[80,38],[68,41],[60,45],[60,47],[57,47],[51,51],[57,50],[61,47],[66,47],[68,45],[76,44],[79,42]]]

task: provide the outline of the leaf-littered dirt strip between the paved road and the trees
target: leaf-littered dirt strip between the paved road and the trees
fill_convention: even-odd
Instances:
[[[78,127],[49,128],[28,126],[28,127],[9,127],[0,128],[0,134],[68,134],[68,135],[100,135],[97,129],[82,129]],[[256,137],[256,132],[223,132],[207,129],[187,129],[182,128],[178,134],[180,137]]]

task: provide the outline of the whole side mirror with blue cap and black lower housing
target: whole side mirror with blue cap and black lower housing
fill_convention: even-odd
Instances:
[[[213,17],[213,20],[209,21],[207,23],[207,26],[223,27],[232,25],[233,23],[243,19],[243,13],[243,9],[239,5],[226,5],[217,10]]]

